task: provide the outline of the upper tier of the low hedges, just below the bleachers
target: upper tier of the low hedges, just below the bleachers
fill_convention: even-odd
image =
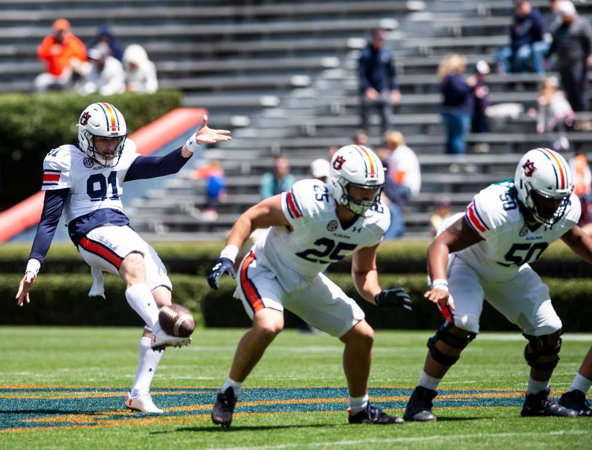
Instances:
[[[426,273],[429,241],[387,241],[378,248],[380,273]],[[153,244],[170,273],[205,275],[217,260],[223,242],[157,242]],[[248,250],[243,247],[243,252]],[[5,244],[0,247],[0,273],[24,270],[30,244]],[[532,264],[541,276],[589,277],[592,268],[563,242],[551,244],[542,258]],[[332,273],[349,273],[350,258],[332,264]],[[47,254],[42,273],[88,273],[86,264],[72,244],[55,244]]]

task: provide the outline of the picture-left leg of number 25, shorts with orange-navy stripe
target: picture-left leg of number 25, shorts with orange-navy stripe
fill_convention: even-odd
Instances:
[[[234,296],[242,300],[247,315],[253,320],[253,326],[240,339],[234,353],[230,373],[212,409],[212,422],[230,426],[243,381],[284,328],[283,295],[284,290],[272,271],[260,266],[255,254],[247,254],[239,267]]]

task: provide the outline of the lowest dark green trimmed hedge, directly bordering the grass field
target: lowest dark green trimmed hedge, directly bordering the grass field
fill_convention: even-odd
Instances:
[[[435,329],[442,323],[437,307],[423,299],[426,290],[424,275],[382,275],[383,287],[404,286],[413,300],[410,314],[395,310],[386,311],[362,300],[355,292],[352,279],[347,274],[330,274],[330,278],[358,300],[366,312],[368,322],[375,328]],[[141,320],[127,305],[123,281],[115,276],[105,276],[106,300],[88,297],[92,277],[90,275],[40,276],[31,291],[31,304],[22,308],[14,300],[20,274],[0,275],[0,296],[5,308],[0,324],[21,325],[141,325]],[[242,303],[233,298],[236,282],[224,277],[219,290],[211,290],[205,277],[172,275],[173,302],[182,303],[194,312],[198,326],[250,326],[250,320]],[[551,289],[555,309],[564,322],[565,331],[589,332],[592,316],[592,280],[564,280],[546,278]],[[511,293],[508,293],[511,295]],[[575,313],[577,312],[577,313]],[[287,326],[294,323],[287,314]],[[481,316],[484,331],[516,330],[503,316],[485,303]]]

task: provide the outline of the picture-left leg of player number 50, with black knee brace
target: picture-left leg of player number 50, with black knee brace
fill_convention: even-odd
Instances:
[[[456,309],[438,305],[445,322],[427,341],[426,361],[419,383],[407,402],[405,420],[435,422],[432,407],[437,386],[479,332],[483,289],[475,271],[457,257],[452,257],[449,263],[448,289]]]

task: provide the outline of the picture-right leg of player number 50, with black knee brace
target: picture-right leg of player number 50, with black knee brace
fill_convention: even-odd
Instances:
[[[524,357],[530,376],[522,416],[573,417],[577,413],[548,398],[549,381],[559,362],[561,319],[551,305],[549,288],[532,268],[525,266],[504,283],[485,283],[485,297],[528,339]]]

